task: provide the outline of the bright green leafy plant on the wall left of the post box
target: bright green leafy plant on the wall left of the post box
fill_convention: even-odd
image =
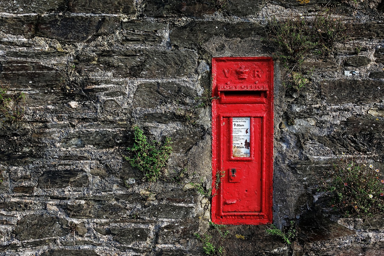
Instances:
[[[132,167],[136,167],[144,173],[148,181],[156,181],[164,171],[167,160],[172,153],[170,138],[166,138],[164,143],[152,141],[149,143],[144,131],[139,127],[134,128],[133,146],[127,148],[130,156],[125,156],[125,160]]]

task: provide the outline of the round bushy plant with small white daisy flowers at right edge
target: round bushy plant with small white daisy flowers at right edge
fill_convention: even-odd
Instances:
[[[330,194],[331,206],[343,216],[384,213],[384,178],[372,164],[362,158],[342,158],[325,176],[321,187]]]

